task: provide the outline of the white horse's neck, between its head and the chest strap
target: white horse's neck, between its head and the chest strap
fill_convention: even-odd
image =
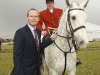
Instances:
[[[67,37],[68,32],[66,29],[67,26],[67,14],[68,14],[68,8],[63,12],[61,19],[59,21],[59,27],[58,27],[58,35]],[[68,41],[66,38],[58,36],[57,39],[55,40],[56,44],[62,48],[63,50],[68,49],[69,50],[69,45]],[[70,44],[72,44],[71,40],[69,40]]]

